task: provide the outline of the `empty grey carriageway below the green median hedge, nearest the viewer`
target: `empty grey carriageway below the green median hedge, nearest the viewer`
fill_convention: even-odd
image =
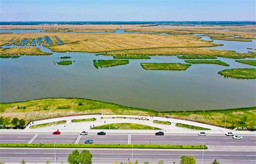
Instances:
[[[61,161],[66,163],[68,154],[74,149],[57,148],[56,156],[58,163]],[[81,149],[79,149],[81,150]],[[150,163],[157,163],[159,160],[164,160],[165,163],[179,163],[182,155],[193,155],[197,162],[200,163],[202,159],[202,150],[163,150],[163,149],[89,149],[93,154],[94,163],[112,163],[112,162],[127,162],[139,160],[149,161]],[[55,155],[54,149],[50,148],[2,148],[0,149],[1,161],[6,163],[20,163],[25,159],[26,163],[45,163],[50,160],[54,163]],[[230,151],[209,151],[204,150],[203,163],[210,163],[214,159],[218,159],[222,164],[224,163],[255,163],[255,152],[230,152]]]

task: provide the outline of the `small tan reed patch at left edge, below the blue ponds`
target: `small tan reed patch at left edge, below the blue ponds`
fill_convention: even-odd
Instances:
[[[1,55],[49,55],[53,53],[43,52],[40,50],[40,48],[37,47],[12,47],[12,48],[0,48],[0,54]]]

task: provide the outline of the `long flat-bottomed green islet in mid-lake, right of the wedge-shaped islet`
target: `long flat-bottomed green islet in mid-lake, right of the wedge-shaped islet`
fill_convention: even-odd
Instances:
[[[142,68],[146,70],[186,70],[189,68],[188,64],[181,63],[141,63]]]

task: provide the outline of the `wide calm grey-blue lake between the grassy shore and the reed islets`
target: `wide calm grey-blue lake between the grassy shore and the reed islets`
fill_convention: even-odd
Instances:
[[[228,42],[235,43],[233,50],[236,49],[236,41]],[[50,51],[46,47],[42,50]],[[69,66],[54,65],[62,56],[71,56],[75,62]],[[198,64],[186,71],[149,71],[140,66],[143,62],[185,63],[177,57],[130,60],[128,65],[103,69],[93,66],[94,59],[113,58],[94,53],[54,52],[52,56],[0,59],[1,102],[84,97],[158,111],[256,105],[255,80],[224,78],[217,74],[224,69],[255,68],[233,59],[218,58],[230,67]]]

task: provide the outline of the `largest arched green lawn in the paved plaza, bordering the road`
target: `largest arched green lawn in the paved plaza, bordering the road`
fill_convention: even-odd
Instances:
[[[147,130],[160,130],[160,128],[151,127],[142,124],[133,124],[133,123],[115,123],[115,124],[106,124],[94,127],[92,129],[147,129]]]

